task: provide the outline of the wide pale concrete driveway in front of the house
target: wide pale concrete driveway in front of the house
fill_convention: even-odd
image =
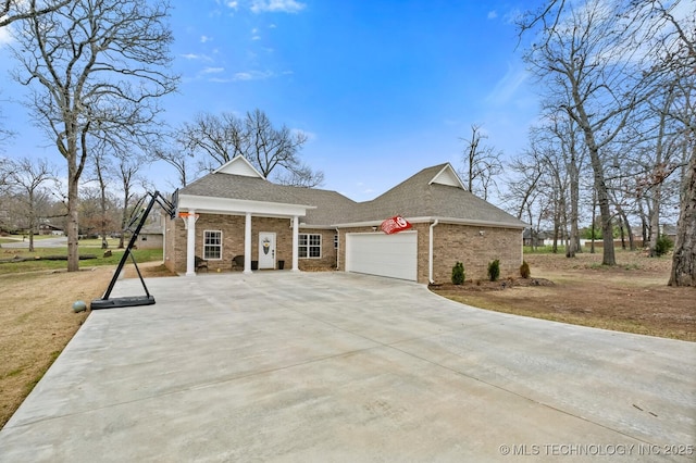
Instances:
[[[696,343],[344,273],[148,287],[156,305],[90,314],[0,461],[694,460]]]

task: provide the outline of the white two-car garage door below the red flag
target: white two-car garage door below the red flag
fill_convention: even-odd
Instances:
[[[346,234],[346,271],[418,279],[418,233]]]

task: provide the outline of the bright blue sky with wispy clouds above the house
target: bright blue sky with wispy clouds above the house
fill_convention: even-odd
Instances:
[[[517,154],[538,102],[524,72],[511,17],[529,1],[197,0],[173,1],[174,70],[183,77],[164,101],[172,125],[197,112],[245,114],[303,130],[304,162],[323,188],[370,200],[421,168],[461,153],[471,125],[486,143]],[[0,41],[2,41],[0,37]],[[24,89],[7,75],[0,98]],[[9,157],[53,154],[26,110],[2,102],[18,133]],[[150,170],[163,190],[175,174]]]

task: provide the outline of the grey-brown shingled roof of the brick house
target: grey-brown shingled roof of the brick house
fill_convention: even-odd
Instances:
[[[307,211],[301,222],[311,226],[348,226],[381,222],[394,215],[513,228],[526,226],[467,191],[449,163],[424,168],[372,201],[360,203],[336,191],[276,185],[260,175],[220,171],[191,183],[179,195],[309,205],[313,208]]]

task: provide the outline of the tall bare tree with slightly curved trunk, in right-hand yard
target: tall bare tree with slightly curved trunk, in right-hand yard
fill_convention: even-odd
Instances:
[[[562,109],[581,128],[594,174],[604,237],[602,264],[614,265],[612,214],[602,151],[621,134],[654,77],[641,67],[636,51],[638,24],[614,4],[597,0],[574,5],[552,2],[562,11],[555,27],[545,28],[540,45],[525,54],[544,83],[571,97]],[[642,50],[645,52],[645,50]]]

